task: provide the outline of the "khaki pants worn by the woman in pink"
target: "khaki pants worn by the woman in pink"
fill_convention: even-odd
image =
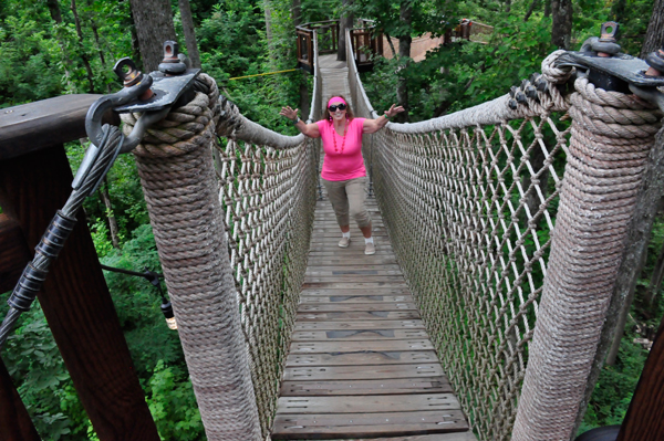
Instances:
[[[352,217],[357,222],[357,227],[364,228],[371,225],[371,217],[364,200],[366,198],[366,176],[347,180],[325,180],[322,179],[328,197],[332,202],[336,222],[340,227],[350,224]]]

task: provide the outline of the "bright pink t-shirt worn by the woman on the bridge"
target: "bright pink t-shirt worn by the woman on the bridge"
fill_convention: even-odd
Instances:
[[[321,177],[325,180],[346,180],[366,176],[364,159],[362,158],[362,130],[365,118],[353,118],[347,123],[345,143],[343,136],[334,130],[334,125],[321,119],[318,123],[321,139],[323,140],[323,169]],[[334,139],[336,150],[334,151]],[[343,146],[343,150],[342,147]]]

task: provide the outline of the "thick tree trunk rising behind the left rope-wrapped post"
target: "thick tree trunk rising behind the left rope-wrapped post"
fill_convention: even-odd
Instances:
[[[164,59],[164,42],[176,41],[168,0],[129,0],[145,72],[156,71]]]

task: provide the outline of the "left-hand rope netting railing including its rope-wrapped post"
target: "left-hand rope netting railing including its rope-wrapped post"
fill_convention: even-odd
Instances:
[[[320,145],[245,118],[205,74],[196,92],[147,130],[138,172],[207,438],[264,440],[305,272]],[[315,76],[310,119],[321,103]],[[125,133],[138,116],[123,115]]]

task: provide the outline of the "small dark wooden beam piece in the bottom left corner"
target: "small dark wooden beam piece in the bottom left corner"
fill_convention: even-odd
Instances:
[[[40,441],[39,433],[0,359],[0,441]]]

